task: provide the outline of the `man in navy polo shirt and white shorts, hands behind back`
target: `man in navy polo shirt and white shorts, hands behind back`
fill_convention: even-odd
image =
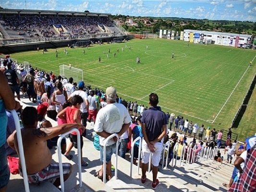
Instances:
[[[153,182],[152,189],[156,189],[159,181],[157,179],[158,175],[158,165],[161,158],[162,151],[162,138],[167,134],[166,130],[166,115],[158,107],[158,95],[151,93],[149,95],[150,108],[143,112],[141,119],[142,122],[142,177],[141,182],[146,182],[146,169],[150,158],[150,153],[152,153],[152,172],[153,172]],[[150,165],[149,165],[150,166]]]

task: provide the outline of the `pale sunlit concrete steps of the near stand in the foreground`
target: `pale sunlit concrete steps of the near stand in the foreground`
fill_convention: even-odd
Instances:
[[[22,99],[26,104],[32,105],[27,98]],[[22,104],[23,108],[26,104]],[[56,121],[50,120],[53,126]],[[82,168],[82,187],[78,186],[78,160],[77,150],[73,148],[71,154],[73,159],[69,161],[62,156],[62,162],[69,162],[73,165],[73,173],[71,177],[65,181],[65,192],[226,192],[222,183],[228,183],[233,170],[232,164],[207,160],[194,164],[184,164],[180,167],[179,161],[177,166],[171,168],[171,163],[168,169],[161,169],[159,166],[158,180],[160,184],[156,190],[151,189],[152,173],[146,173],[147,180],[145,184],[140,181],[140,174],[136,174],[137,167],[133,166],[133,177],[130,177],[130,156],[126,154],[126,159],[118,157],[118,180],[113,177],[110,181],[104,184],[101,180],[94,176],[95,172],[101,167],[99,160],[100,154],[93,146],[93,126],[88,123],[86,127],[87,136],[83,138],[83,157],[89,163],[87,167]],[[67,139],[67,144],[69,144]],[[57,149],[52,151],[53,160],[58,162]],[[115,156],[112,156],[112,165],[115,163]],[[114,176],[114,172],[112,172]],[[19,175],[12,175],[7,192],[24,192],[23,179]],[[39,186],[30,185],[31,192],[55,192],[59,191],[50,183],[42,183]]]

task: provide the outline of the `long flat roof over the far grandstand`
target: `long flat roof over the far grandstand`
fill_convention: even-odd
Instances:
[[[72,14],[72,15],[88,15],[88,16],[109,16],[110,13],[97,12],[65,12],[65,11],[50,11],[50,10],[26,10],[26,9],[0,9],[0,14]]]

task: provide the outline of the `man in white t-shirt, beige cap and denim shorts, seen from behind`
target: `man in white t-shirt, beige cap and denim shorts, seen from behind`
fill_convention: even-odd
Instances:
[[[108,87],[106,90],[107,103],[104,108],[98,111],[96,123],[94,125],[94,131],[99,135],[100,144],[100,161],[104,163],[103,159],[103,146],[106,142],[106,138],[113,133],[117,133],[120,138],[121,135],[127,131],[131,124],[131,117],[124,105],[116,103],[116,89],[114,87]],[[106,171],[107,179],[111,179],[111,156],[115,153],[116,142],[118,138],[114,137],[106,144]],[[103,178],[103,165],[101,169],[96,172],[96,176],[99,179]]]

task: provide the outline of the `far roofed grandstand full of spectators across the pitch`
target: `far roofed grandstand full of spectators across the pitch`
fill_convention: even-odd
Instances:
[[[42,47],[54,48],[76,44],[79,41],[96,43],[111,42],[116,38],[127,39],[127,34],[111,21],[110,15],[93,12],[1,9],[1,53],[13,51],[12,45],[15,45],[17,50],[22,44],[39,43],[44,44]],[[87,45],[87,43],[80,44]],[[26,50],[35,48],[35,46],[26,46]]]

